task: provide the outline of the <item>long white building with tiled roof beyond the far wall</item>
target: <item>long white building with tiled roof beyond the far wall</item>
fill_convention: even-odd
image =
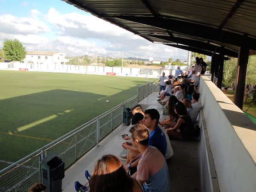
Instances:
[[[64,52],[57,51],[27,51],[23,61],[31,64],[66,64],[68,59],[65,56]]]

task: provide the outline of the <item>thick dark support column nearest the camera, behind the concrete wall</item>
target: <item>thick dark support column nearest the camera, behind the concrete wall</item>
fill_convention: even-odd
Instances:
[[[236,75],[236,84],[235,84],[235,93],[234,93],[234,103],[241,110],[243,109],[243,99],[244,99],[244,89],[245,89],[245,79],[246,79],[246,70],[249,58],[250,51],[250,41],[248,35],[244,34],[244,37],[241,40],[241,46],[238,53],[237,61],[237,75]]]

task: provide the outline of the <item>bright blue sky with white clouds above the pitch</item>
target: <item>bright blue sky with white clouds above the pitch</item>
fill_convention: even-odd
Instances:
[[[150,41],[61,0],[0,0],[0,49],[17,38],[26,51],[63,51],[68,56],[101,55],[167,61],[187,60],[183,49]]]

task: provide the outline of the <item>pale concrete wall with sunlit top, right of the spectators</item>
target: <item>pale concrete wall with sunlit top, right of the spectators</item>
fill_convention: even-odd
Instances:
[[[255,124],[207,76],[199,91],[220,191],[256,191]]]

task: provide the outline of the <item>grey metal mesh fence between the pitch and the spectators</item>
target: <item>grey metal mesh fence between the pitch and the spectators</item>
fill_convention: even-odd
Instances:
[[[23,192],[34,183],[42,182],[40,161],[47,154],[61,157],[67,169],[122,124],[124,108],[133,108],[156,88],[154,81],[139,86],[138,95],[3,169],[0,171],[0,192]]]

